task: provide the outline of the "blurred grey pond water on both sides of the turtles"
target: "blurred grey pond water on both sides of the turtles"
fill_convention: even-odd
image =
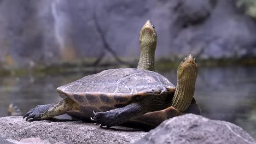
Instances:
[[[176,70],[159,71],[176,85]],[[1,77],[0,117],[14,103],[25,113],[61,98],[55,89],[88,74]],[[256,67],[200,68],[195,98],[202,115],[235,123],[256,139]]]

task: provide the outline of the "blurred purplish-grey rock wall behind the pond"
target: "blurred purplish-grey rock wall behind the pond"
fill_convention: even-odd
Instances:
[[[0,67],[135,62],[148,19],[156,59],[254,58],[255,8],[254,0],[1,0]]]

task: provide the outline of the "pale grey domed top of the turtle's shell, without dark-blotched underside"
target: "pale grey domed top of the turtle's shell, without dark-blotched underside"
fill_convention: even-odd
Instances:
[[[60,94],[71,95],[146,95],[174,92],[175,86],[164,76],[148,70],[120,68],[103,70],[57,88]],[[87,96],[86,96],[87,97]]]

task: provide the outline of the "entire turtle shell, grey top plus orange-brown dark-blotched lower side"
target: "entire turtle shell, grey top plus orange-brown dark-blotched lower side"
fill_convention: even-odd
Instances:
[[[174,93],[175,86],[164,76],[149,70],[120,68],[103,70],[57,88],[82,107],[108,111],[150,95]]]

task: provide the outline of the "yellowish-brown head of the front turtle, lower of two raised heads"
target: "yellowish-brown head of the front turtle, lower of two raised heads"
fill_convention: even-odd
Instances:
[[[184,57],[178,67],[178,80],[190,80],[197,77],[197,64],[193,55]]]

